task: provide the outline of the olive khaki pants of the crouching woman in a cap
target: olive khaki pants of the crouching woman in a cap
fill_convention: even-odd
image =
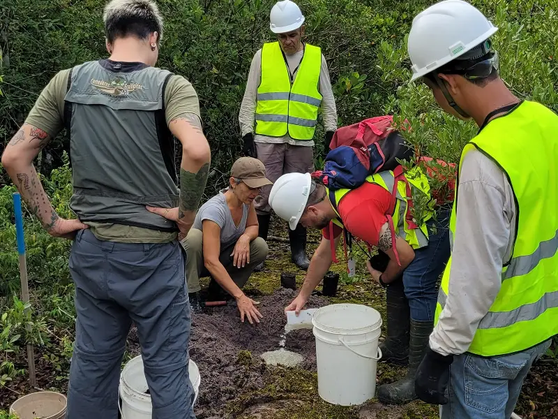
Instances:
[[[188,236],[184,243],[186,249],[186,281],[188,281],[188,292],[195,293],[200,291],[202,287],[199,285],[199,278],[209,277],[211,274],[204,266],[204,253],[203,253],[203,240],[202,231],[197,228],[190,228]],[[229,273],[234,284],[243,288],[243,286],[250,278],[250,274],[254,268],[262,262],[267,256],[268,248],[267,243],[262,237],[256,237],[255,240],[250,242],[250,263],[246,264],[240,269],[232,263],[234,262],[233,256],[230,256],[234,250],[233,243],[227,247],[221,247],[219,254],[219,261]]]

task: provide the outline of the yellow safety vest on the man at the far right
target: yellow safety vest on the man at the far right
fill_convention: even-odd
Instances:
[[[459,171],[472,149],[506,174],[518,219],[511,259],[502,269],[502,288],[479,323],[469,352],[496,356],[524,351],[558,333],[558,116],[539,103],[524,101],[508,115],[492,119],[465,145]],[[458,182],[450,219],[452,249],[457,197]],[[446,304],[450,272],[451,258],[435,323]]]

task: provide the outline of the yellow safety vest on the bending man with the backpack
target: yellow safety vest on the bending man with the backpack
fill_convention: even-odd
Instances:
[[[422,191],[423,193],[430,196],[430,185],[428,184],[428,177],[424,175],[421,168],[415,166],[414,168],[407,171],[404,176],[412,188],[418,189],[418,191]],[[385,170],[383,172],[375,173],[375,175],[366,177],[366,182],[382,186],[382,188],[389,191],[389,193],[392,193],[395,177],[393,175],[393,171]],[[340,226],[341,228],[343,228],[343,224],[340,221],[340,215],[337,208],[342,198],[352,190],[353,189],[338,189],[337,191],[327,191],[329,200],[333,204],[333,210],[335,210],[335,213],[339,216],[338,219],[333,219],[333,223],[335,223],[337,226]],[[428,227],[426,226],[425,222],[423,222],[421,226],[418,226],[418,228],[411,228],[407,221],[410,210],[408,203],[412,197],[407,196],[407,185],[405,184],[405,180],[403,179],[398,180],[397,193],[395,198],[396,199],[393,214],[389,214],[393,219],[393,226],[395,226],[396,231],[394,233],[402,239],[405,239],[405,241],[409,243],[409,245],[413,249],[420,249],[421,247],[425,247],[428,244]],[[432,207],[434,201],[431,200],[430,202],[432,205],[430,205],[428,210],[426,210],[426,215],[423,221],[428,221],[432,218]]]

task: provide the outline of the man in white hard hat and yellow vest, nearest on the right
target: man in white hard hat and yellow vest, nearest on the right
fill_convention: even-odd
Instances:
[[[460,157],[452,256],[415,381],[443,419],[510,418],[558,333],[558,116],[506,87],[496,31],[446,0],[418,14],[408,38],[412,80],[479,127]]]

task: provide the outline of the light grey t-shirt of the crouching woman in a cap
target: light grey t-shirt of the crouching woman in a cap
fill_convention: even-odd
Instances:
[[[192,226],[192,228],[203,231],[202,222],[204,220],[211,220],[216,223],[221,228],[221,249],[236,243],[236,240],[239,240],[239,237],[243,235],[244,230],[246,230],[248,210],[250,210],[250,205],[243,204],[242,218],[239,226],[236,227],[229,210],[229,205],[227,205],[227,200],[225,199],[225,191],[227,189],[219,191],[218,195],[213,196],[213,198],[199,207]]]

